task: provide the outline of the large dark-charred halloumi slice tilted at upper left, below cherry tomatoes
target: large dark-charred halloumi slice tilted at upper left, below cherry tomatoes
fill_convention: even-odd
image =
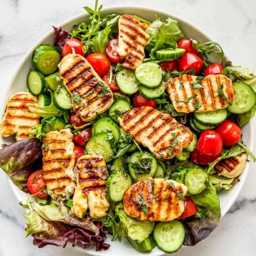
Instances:
[[[91,121],[105,112],[113,103],[113,93],[102,91],[103,80],[81,55],[66,55],[58,65],[60,77],[69,93],[78,93],[81,102],[73,101],[73,109],[83,121]],[[107,86],[107,85],[106,85]]]

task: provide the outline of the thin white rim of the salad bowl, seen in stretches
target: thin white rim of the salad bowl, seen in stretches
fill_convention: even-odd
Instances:
[[[205,31],[203,31],[200,27],[198,27],[197,25],[195,25],[194,23],[186,20],[185,18],[182,18],[181,16],[178,16],[178,15],[175,15],[175,14],[172,14],[171,12],[168,12],[168,11],[163,11],[163,10],[160,10],[160,9],[157,9],[157,8],[153,8],[153,7],[144,7],[144,6],[138,6],[138,5],[116,5],[116,6],[108,6],[108,7],[103,7],[101,12],[110,12],[111,10],[113,9],[118,9],[119,11],[123,11],[124,9],[126,8],[129,8],[129,9],[141,9],[143,11],[155,11],[156,13],[161,13],[161,14],[164,14],[164,15],[167,15],[167,16],[170,16],[174,19],[177,19],[179,21],[182,21],[183,24],[185,25],[190,25],[192,26],[195,30],[197,30],[198,32],[201,32],[204,36],[206,36],[207,38],[209,38],[211,41],[214,41],[214,39],[208,34],[206,33]],[[74,22],[74,20],[78,19],[78,18],[82,18],[83,16],[89,16],[89,14],[87,14],[86,12],[82,12],[81,14],[78,14],[78,15],[75,15],[73,17],[70,17],[68,18],[67,20],[65,20],[64,22],[61,22],[59,23],[56,27],[63,27],[65,25],[68,25],[70,22]],[[26,52],[26,54],[22,57],[22,59],[20,60],[20,62],[18,63],[13,75],[12,75],[12,78],[10,80],[10,82],[8,83],[7,85],[7,90],[6,92],[8,92],[10,90],[10,87],[11,85],[14,83],[15,81],[15,75],[18,73],[18,71],[21,69],[23,63],[26,62],[27,58],[31,55],[31,53],[33,52],[34,48],[38,46],[38,44],[43,41],[46,37],[50,36],[51,34],[53,33],[53,30],[49,30],[47,33],[45,33],[42,37],[40,37],[31,47],[30,49]],[[226,54],[225,50],[224,50],[224,56],[225,58],[228,58],[228,55]],[[4,106],[3,106],[4,105]],[[0,109],[5,109],[5,105],[6,105],[6,102],[1,102],[1,108]],[[247,126],[249,126],[249,129],[250,129],[250,134],[252,135],[251,139],[250,139],[250,143],[247,143],[249,144],[248,148],[252,151],[253,150],[253,147],[254,147],[254,133],[253,133],[253,130],[254,130],[254,121],[251,120]],[[250,162],[246,162],[246,166],[244,168],[244,171],[243,171],[243,178],[242,180],[239,182],[240,183],[240,187],[237,191],[234,192],[234,195],[232,197],[232,200],[229,201],[228,204],[226,204],[225,206],[225,209],[222,211],[221,209],[221,219],[222,217],[224,217],[224,215],[228,212],[228,210],[230,209],[230,207],[233,205],[233,203],[235,202],[235,200],[237,199],[238,195],[240,194],[241,190],[242,190],[242,187],[244,186],[244,183],[245,183],[245,180],[246,180],[246,177],[248,175],[248,172],[249,172],[249,169],[250,169],[250,165],[251,165],[251,156],[249,155],[248,156],[248,159],[250,160]],[[7,176],[7,175],[6,175]],[[9,185],[12,189],[12,191],[14,192],[15,194],[15,197],[20,201],[21,200],[21,197],[20,197],[20,192],[21,191],[18,191],[16,189],[16,186],[14,185],[14,183],[11,181],[10,178],[8,178],[8,182],[9,182]],[[70,243],[68,243],[68,245],[70,245]],[[70,245],[71,246],[71,245]],[[84,253],[87,252],[86,249],[81,249],[80,247],[74,247],[74,249],[76,250],[79,250],[79,251],[83,251]],[[100,251],[95,251],[95,252],[92,252],[90,251],[89,252],[90,255],[95,255],[95,256],[100,256],[100,255],[105,255],[105,254],[101,254]],[[156,253],[154,255],[164,255],[165,252],[162,252],[162,253]]]

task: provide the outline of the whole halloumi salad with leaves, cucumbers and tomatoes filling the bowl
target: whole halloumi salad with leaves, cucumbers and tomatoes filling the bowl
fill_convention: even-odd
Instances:
[[[34,245],[128,240],[140,252],[193,246],[218,225],[218,193],[248,158],[256,77],[172,18],[101,15],[37,45],[27,90],[1,121],[0,167],[25,193]],[[221,192],[220,192],[221,193]],[[111,243],[112,246],[112,243]]]

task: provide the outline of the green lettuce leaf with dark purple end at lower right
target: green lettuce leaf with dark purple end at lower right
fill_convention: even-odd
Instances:
[[[191,197],[198,207],[205,211],[202,218],[185,218],[182,223],[186,230],[184,245],[193,246],[207,238],[217,227],[221,213],[216,189],[210,185],[202,193]]]

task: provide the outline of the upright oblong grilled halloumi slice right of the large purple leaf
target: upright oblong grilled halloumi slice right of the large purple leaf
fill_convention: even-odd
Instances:
[[[68,199],[75,191],[75,154],[70,129],[52,131],[43,138],[43,177],[57,201]]]

